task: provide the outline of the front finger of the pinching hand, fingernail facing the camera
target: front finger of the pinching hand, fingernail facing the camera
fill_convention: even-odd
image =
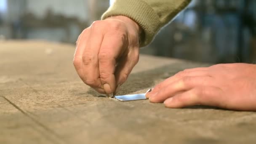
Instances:
[[[116,88],[115,65],[123,48],[123,37],[112,33],[104,35],[99,51],[99,75],[107,94],[113,94]]]

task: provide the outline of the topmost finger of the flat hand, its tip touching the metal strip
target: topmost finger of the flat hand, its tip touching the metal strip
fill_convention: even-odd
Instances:
[[[207,75],[208,75],[208,71],[206,71],[206,70],[178,72],[176,75],[173,75],[172,77],[169,77],[168,79],[164,80],[163,82],[157,84],[155,86],[155,88],[150,93],[147,93],[146,97],[149,98],[150,96],[155,95],[155,93],[160,91],[162,88],[170,85],[171,83],[173,83],[183,77],[199,77],[199,76],[207,76]]]

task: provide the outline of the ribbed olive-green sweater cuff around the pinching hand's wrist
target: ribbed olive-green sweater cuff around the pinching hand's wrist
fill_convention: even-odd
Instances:
[[[141,0],[115,0],[101,19],[120,15],[133,19],[142,28],[143,34],[140,37],[140,47],[148,45],[162,26],[155,11]]]

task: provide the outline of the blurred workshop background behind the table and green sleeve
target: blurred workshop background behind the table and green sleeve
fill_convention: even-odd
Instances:
[[[114,0],[0,0],[0,40],[75,45]],[[192,0],[141,53],[200,62],[256,63],[256,0]]]

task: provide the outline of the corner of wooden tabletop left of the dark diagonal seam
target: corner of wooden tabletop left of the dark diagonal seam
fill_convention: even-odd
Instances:
[[[61,144],[57,136],[26,112],[0,96],[0,144]]]

